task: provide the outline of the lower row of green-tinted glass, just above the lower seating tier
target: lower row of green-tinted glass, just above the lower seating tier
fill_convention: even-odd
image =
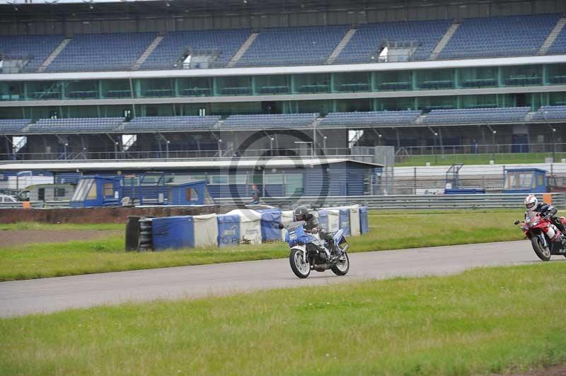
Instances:
[[[199,114],[265,114],[318,112],[364,112],[566,105],[566,92],[486,95],[444,95],[403,98],[337,100],[285,100],[269,102],[166,103],[146,105],[62,105],[0,107],[0,119],[45,119],[50,117],[132,117]]]

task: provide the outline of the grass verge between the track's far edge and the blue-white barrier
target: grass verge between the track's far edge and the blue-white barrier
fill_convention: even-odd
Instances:
[[[372,211],[370,232],[350,252],[520,240],[521,211]],[[105,240],[0,247],[0,281],[287,257],[289,247],[241,245],[166,252],[125,252],[123,236]]]

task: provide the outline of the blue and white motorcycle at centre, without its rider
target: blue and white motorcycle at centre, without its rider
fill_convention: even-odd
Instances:
[[[325,271],[332,270],[337,276],[345,276],[350,270],[350,259],[348,258],[348,248],[344,230],[332,233],[332,241],[320,240],[316,229],[308,232],[304,228],[305,221],[296,221],[287,226],[285,241],[291,248],[289,254],[289,264],[291,270],[299,278],[306,278],[311,274],[311,270]],[[333,254],[331,247],[340,250],[340,257]]]

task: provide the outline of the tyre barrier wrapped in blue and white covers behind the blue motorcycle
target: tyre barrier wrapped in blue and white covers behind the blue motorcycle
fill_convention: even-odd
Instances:
[[[369,231],[368,208],[342,206],[312,212],[325,230],[344,230],[345,236]],[[126,250],[229,247],[284,242],[280,223],[294,221],[294,211],[235,209],[226,214],[145,218],[132,216],[126,225]]]

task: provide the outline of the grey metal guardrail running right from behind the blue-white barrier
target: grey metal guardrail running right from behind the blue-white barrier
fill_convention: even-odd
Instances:
[[[566,193],[553,193],[553,205],[566,206]],[[379,209],[473,209],[473,208],[522,208],[526,194],[417,194],[400,196],[328,196],[323,206],[359,204]],[[542,198],[542,197],[541,197]],[[233,199],[215,199],[219,204],[231,204]],[[281,208],[293,208],[298,204],[311,205],[320,198],[265,197],[261,201]]]

